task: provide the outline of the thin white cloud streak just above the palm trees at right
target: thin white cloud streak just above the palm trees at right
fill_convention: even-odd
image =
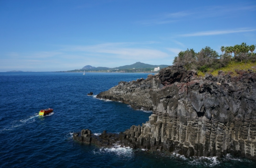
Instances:
[[[222,35],[222,34],[230,34],[230,33],[242,33],[242,32],[253,32],[256,29],[245,29],[245,30],[215,30],[215,31],[204,31],[204,32],[196,32],[190,34],[181,34],[178,36],[181,37],[191,37],[191,36],[213,36],[213,35]]]

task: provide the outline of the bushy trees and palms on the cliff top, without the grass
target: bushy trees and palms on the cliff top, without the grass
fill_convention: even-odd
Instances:
[[[181,51],[174,58],[173,64],[202,72],[207,72],[209,69],[213,71],[226,66],[230,61],[255,62],[256,54],[253,53],[254,50],[255,45],[249,46],[245,42],[240,45],[221,46],[222,54],[220,55],[209,46],[202,48],[198,53],[194,49],[187,49],[186,51]]]

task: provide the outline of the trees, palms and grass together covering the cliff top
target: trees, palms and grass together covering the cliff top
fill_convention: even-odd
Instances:
[[[181,51],[174,58],[173,64],[182,65],[187,69],[195,69],[198,71],[198,75],[201,76],[206,72],[217,75],[219,70],[236,74],[236,69],[248,70],[256,66],[254,50],[255,45],[247,45],[245,42],[240,45],[221,46],[221,55],[218,55],[209,46],[201,49],[198,53],[193,49],[187,49],[186,51]]]

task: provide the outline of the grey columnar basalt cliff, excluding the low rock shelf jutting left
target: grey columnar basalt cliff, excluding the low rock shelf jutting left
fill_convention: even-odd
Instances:
[[[196,71],[172,66],[146,80],[119,82],[97,97],[153,109],[146,124],[124,132],[124,146],[256,158],[256,74],[237,73],[201,78]]]

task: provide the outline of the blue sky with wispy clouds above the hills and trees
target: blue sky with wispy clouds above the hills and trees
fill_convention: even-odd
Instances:
[[[255,0],[0,0],[0,72],[135,62],[256,44]]]

